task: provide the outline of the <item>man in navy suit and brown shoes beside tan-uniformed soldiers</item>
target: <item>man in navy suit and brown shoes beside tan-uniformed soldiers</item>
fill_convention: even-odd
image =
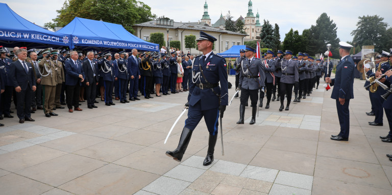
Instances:
[[[71,51],[71,60],[65,62],[65,86],[67,96],[68,112],[73,113],[72,106],[76,111],[82,111],[79,107],[80,86],[85,75],[82,64],[78,61],[78,52]]]

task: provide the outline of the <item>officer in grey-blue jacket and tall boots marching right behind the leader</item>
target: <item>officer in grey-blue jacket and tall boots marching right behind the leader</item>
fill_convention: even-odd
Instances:
[[[241,90],[240,105],[239,105],[239,120],[237,124],[243,124],[243,116],[245,114],[245,106],[248,98],[251,98],[252,119],[249,124],[253,125],[256,122],[258,90],[265,87],[264,65],[260,59],[253,57],[256,49],[246,46],[246,59],[241,62],[241,71],[239,73],[238,90]],[[260,78],[259,78],[260,77]]]

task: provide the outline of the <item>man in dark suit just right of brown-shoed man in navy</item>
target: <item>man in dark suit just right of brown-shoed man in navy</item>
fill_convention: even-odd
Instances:
[[[100,76],[97,74],[97,64],[93,61],[94,59],[94,52],[89,51],[87,52],[87,60],[83,62],[83,72],[86,77],[86,99],[87,99],[87,107],[97,108],[95,106],[95,93],[96,93],[96,85]]]

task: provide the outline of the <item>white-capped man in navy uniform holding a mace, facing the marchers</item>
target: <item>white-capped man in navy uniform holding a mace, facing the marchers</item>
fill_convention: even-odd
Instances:
[[[350,133],[350,99],[354,98],[354,61],[350,57],[352,45],[346,42],[339,42],[340,62],[336,66],[335,78],[326,77],[325,80],[334,86],[331,98],[336,100],[337,116],[339,117],[340,132],[331,135],[331,140],[349,141]]]

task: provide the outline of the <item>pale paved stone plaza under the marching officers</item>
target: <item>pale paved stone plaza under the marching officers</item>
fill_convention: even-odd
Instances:
[[[229,81],[234,84],[234,76]],[[237,125],[239,99],[228,106],[215,160],[203,166],[208,131],[202,120],[182,162],[165,155],[177,147],[186,115],[164,140],[186,103],[187,92],[46,118],[1,122],[0,194],[392,194],[389,127],[367,124],[374,117],[363,81],[355,79],[350,102],[349,142],[330,140],[339,132],[331,90],[313,90],[301,103],[279,112],[279,102],[260,108],[255,125]],[[229,90],[229,99],[234,88]],[[97,99],[99,100],[99,99]],[[266,99],[264,98],[264,105]],[[286,104],[286,103],[285,103]],[[12,108],[14,106],[12,105]],[[14,110],[16,112],[16,110]]]

